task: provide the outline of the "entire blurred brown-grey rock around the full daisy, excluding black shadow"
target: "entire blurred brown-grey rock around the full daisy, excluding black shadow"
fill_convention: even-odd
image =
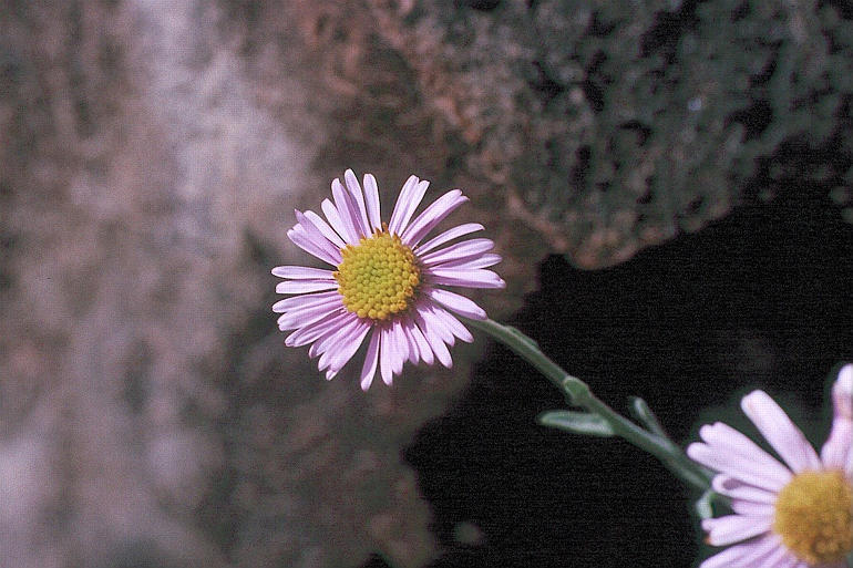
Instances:
[[[845,4],[721,2],[740,74],[709,3],[577,4],[4,2],[0,565],[436,554],[400,451],[481,348],[363,395],[317,380],[269,312],[269,268],[304,260],[292,208],[346,167],[387,207],[410,173],[464,188],[454,220],[506,257],[507,292],[481,296],[499,318],[547,252],[617,262],[792,169],[849,206]]]

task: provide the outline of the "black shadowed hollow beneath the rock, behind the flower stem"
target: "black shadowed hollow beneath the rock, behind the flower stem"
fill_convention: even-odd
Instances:
[[[610,269],[551,257],[511,323],[617,410],[646,399],[680,443],[700,421],[740,425],[739,396],[761,388],[820,445],[826,378],[853,360],[851,275],[853,226],[825,188],[799,184]],[[464,397],[419,433],[405,458],[444,547],[433,568],[695,564],[695,496],[620,440],[536,425],[562,406],[493,347]],[[454,536],[460,523],[482,530],[479,546]]]

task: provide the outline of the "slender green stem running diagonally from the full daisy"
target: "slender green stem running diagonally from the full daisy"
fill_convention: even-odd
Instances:
[[[610,409],[593,394],[589,385],[580,379],[572,376],[548,359],[531,338],[515,328],[502,326],[489,319],[466,319],[466,322],[500,341],[535,366],[566,395],[569,404],[582,406],[607,421],[614,433],[656,456],[669,471],[697,489],[705,492],[710,487],[711,472],[689,459],[671,440],[638,426]]]

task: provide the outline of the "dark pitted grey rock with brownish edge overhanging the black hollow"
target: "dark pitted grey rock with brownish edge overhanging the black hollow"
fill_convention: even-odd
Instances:
[[[849,137],[853,22],[841,3],[361,6],[348,3],[346,22],[306,10],[307,28],[345,30],[339,50],[332,39],[322,51],[346,61],[372,43],[390,47],[424,106],[459,137],[456,162],[501,187],[511,215],[584,267],[724,215],[783,142]],[[352,66],[340,74],[372,69]]]

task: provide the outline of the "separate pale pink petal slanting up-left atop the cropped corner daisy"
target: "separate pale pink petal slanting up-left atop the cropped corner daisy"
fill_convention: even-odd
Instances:
[[[803,433],[765,392],[751,392],[740,406],[794,473],[821,468],[821,461]]]

